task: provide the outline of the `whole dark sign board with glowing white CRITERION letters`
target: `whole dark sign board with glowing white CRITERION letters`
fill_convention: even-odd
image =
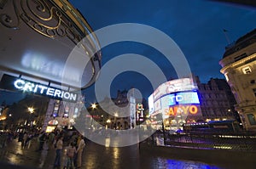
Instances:
[[[55,87],[49,87],[37,82],[26,81],[14,76],[4,75],[1,83],[1,88],[20,91],[24,93],[33,93],[38,95],[48,96],[52,99],[63,99],[65,101],[76,102],[78,98],[77,93],[71,93]]]

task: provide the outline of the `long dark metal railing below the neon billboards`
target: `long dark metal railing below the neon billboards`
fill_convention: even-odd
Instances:
[[[155,132],[148,144],[190,149],[230,149],[256,151],[256,135],[250,133],[177,133]]]

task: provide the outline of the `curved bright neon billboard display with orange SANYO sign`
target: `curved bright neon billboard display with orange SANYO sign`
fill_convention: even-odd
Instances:
[[[149,115],[163,119],[176,115],[198,115],[201,112],[197,86],[190,78],[165,82],[148,97]]]

